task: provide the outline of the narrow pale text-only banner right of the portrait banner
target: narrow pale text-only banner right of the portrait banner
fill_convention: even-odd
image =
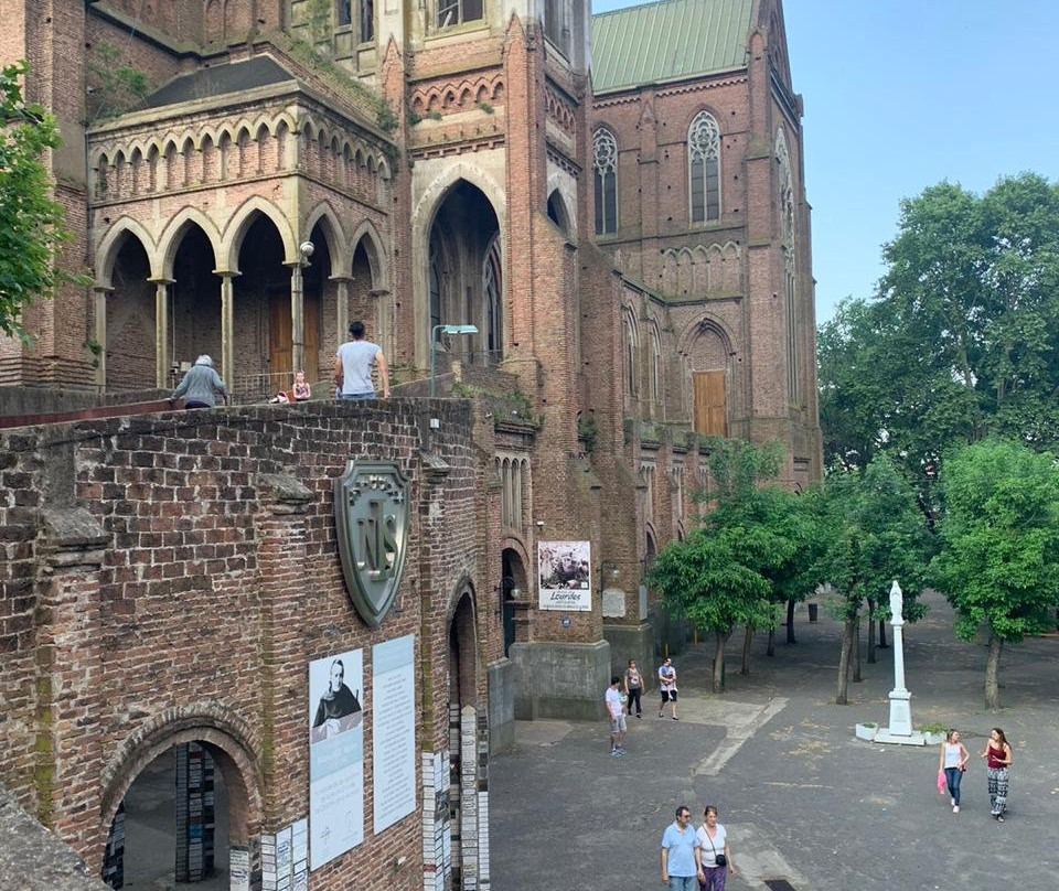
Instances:
[[[374,829],[382,831],[416,809],[416,637],[372,647]]]

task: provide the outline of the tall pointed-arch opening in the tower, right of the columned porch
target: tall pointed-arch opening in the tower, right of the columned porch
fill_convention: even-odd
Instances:
[[[430,334],[437,325],[474,325],[477,334],[437,335],[438,366],[503,358],[503,262],[500,224],[485,194],[466,180],[447,192],[430,227],[427,291]]]

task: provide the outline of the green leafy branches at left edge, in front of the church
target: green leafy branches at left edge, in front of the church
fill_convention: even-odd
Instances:
[[[74,280],[55,265],[66,240],[42,158],[60,144],[55,119],[22,98],[24,62],[0,68],[0,334],[25,337],[20,319],[32,300]]]

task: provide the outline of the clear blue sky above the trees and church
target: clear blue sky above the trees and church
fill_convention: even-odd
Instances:
[[[785,0],[783,14],[817,322],[874,293],[901,198],[944,179],[975,192],[1027,170],[1059,180],[1059,2]]]

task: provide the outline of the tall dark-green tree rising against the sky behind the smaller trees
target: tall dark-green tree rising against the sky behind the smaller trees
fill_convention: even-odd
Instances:
[[[902,202],[884,257],[877,299],[820,332],[826,458],[888,451],[926,489],[953,442],[1059,446],[1059,186],[931,186]]]

